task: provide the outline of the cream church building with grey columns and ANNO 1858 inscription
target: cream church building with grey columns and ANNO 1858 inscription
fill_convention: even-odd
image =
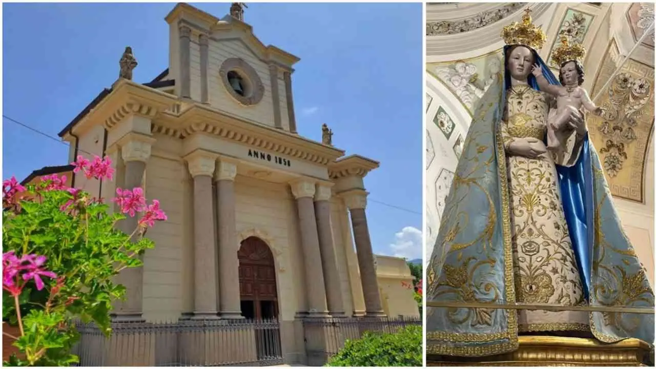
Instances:
[[[60,132],[70,142],[70,162],[91,153],[115,163],[114,181],[75,175],[73,186],[106,199],[116,186],[142,186],[168,216],[148,230],[155,248],[144,266],[119,276],[127,300],[115,303],[115,337],[101,345],[83,331],[81,364],[180,364],[161,356],[182,351],[195,364],[225,362],[211,358],[211,347],[199,354],[199,345],[142,336],[134,337],[134,350],[143,354],[125,355],[117,339],[131,324],[145,330],[150,322],[186,322],[194,339],[219,345],[230,340],[218,337],[228,328],[203,327],[272,320],[279,343],[269,356],[307,362],[312,327],[320,328],[315,349],[328,353],[329,341],[343,341],[324,329],[338,319],[356,332],[363,322],[388,327],[397,316],[420,322],[411,291],[394,290],[411,282],[404,261],[380,258],[386,280],[397,278],[399,286],[379,286],[364,181],[379,163],[346,156],[325,126],[323,142],[297,133],[292,74],[299,58],[262,44],[240,3],[220,19],[180,3],[165,20],[169,68],[136,83],[127,48],[121,77]],[[136,219],[125,230],[135,226]],[[205,325],[194,325],[199,321]],[[253,332],[245,345],[257,353],[239,349],[231,362],[262,363],[262,339]]]

